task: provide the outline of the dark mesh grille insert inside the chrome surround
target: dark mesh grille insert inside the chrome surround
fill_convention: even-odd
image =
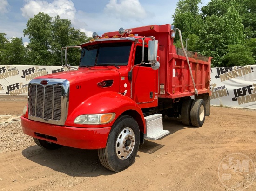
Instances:
[[[49,119],[61,119],[62,87],[31,84],[29,87],[29,115]]]

